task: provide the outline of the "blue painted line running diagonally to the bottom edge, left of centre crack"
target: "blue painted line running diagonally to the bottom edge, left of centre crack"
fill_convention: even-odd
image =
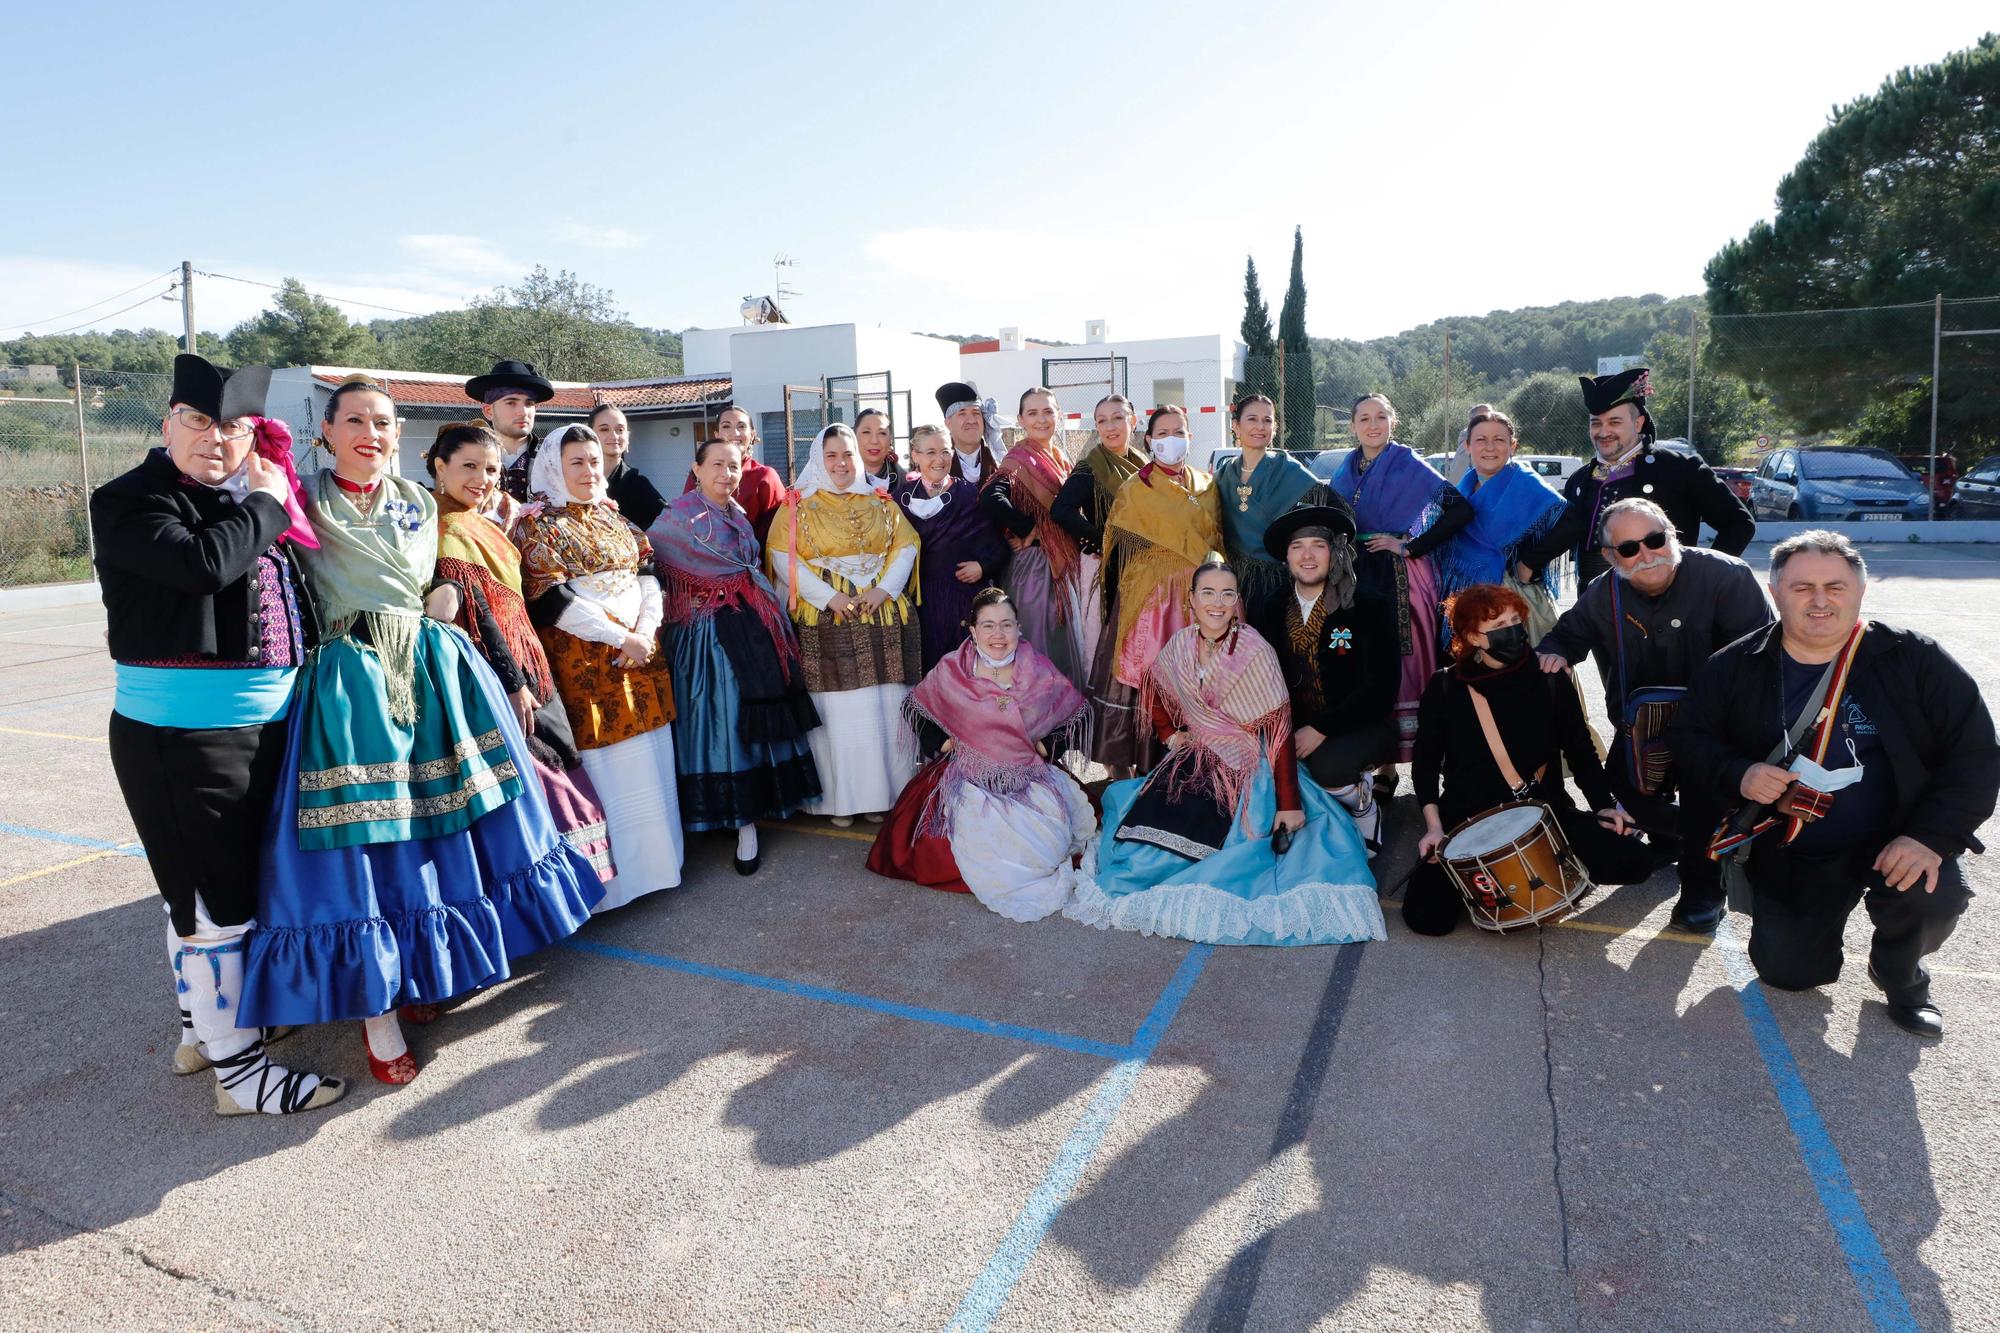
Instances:
[[[1166,989],[1160,991],[1160,999],[1154,1001],[1152,1013],[1140,1023],[1138,1035],[1132,1039],[1132,1051],[1128,1057],[1112,1067],[1104,1085],[1090,1099],[1080,1121],[1064,1139],[1062,1149],[1056,1151],[1056,1161],[1048,1165],[1048,1173],[1042,1175],[1042,1183],[1034,1187],[1028,1195],[1028,1203],[1022,1205],[1020,1213],[1014,1217],[1014,1225],[1008,1227],[1006,1237],[1000,1239],[998,1249],[994,1249],[992,1259],[980,1271],[972,1289],[958,1303],[952,1313],[950,1333],[986,1333],[992,1327],[994,1317],[1006,1305],[1008,1297],[1014,1295],[1014,1285],[1020,1275],[1028,1271],[1028,1263],[1034,1253],[1042,1247],[1048,1237],[1048,1229],[1056,1223],[1056,1215],[1068,1205],[1070,1195],[1076,1191],[1076,1183],[1084,1179],[1084,1171],[1090,1169],[1090,1159],[1098,1155],[1098,1147],[1104,1143],[1104,1135],[1110,1133],[1112,1121],[1118,1117],[1118,1109],[1124,1099],[1132,1093],[1138,1083],[1140,1073],[1146,1071],[1146,1061],[1152,1059],[1154,1049],[1166,1035],[1166,1029],[1174,1023],[1174,1015],[1180,1013],[1180,1003],[1188,999],[1188,991],[1194,989],[1194,981],[1202,975],[1202,967],[1208,963],[1212,945],[1196,945],[1188,951],[1188,957],[1180,961],[1180,969],[1174,973]]]

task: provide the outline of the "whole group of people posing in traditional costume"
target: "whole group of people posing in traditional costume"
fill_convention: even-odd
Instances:
[[[1382,394],[1322,480],[1262,394],[1206,472],[1178,404],[1140,428],[1100,400],[1072,462],[1052,390],[1006,446],[952,382],[906,460],[870,408],[790,486],[728,408],[672,500],[614,404],[538,438],[554,386],[524,362],[468,380],[480,416],[438,432],[430,486],[396,474],[366,376],[300,478],[268,382],[176,358],[162,446],[90,500],[174,1069],[212,1069],[218,1113],[342,1095],[272,1061],[304,1023],[358,1021],[370,1073],[408,1083],[406,1023],[680,885],[686,831],[732,833],[752,875],[758,825],[800,813],[880,825],[868,869],[1012,921],[1384,939],[1398,763],[1414,933],[1476,905],[1454,829],[1532,807],[1594,883],[1676,865],[1676,929],[1750,913],[1772,985],[1838,977],[1864,905],[1890,1017],[1942,1033],[1922,959],[2000,793],[1986,705],[1936,642],[1860,616],[1836,534],[1774,548],[1772,614],[1736,558],[1748,512],[1656,446],[1644,370],[1582,380],[1596,456],[1562,492],[1486,404],[1456,484]]]

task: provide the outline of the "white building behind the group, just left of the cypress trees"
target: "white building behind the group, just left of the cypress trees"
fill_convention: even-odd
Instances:
[[[1018,330],[1002,328],[1000,338],[962,348],[958,378],[1008,414],[1022,392],[1046,384],[1056,390],[1072,430],[1090,430],[1092,410],[1112,392],[1128,396],[1140,420],[1162,404],[1184,406],[1194,432],[1188,456],[1194,466],[1206,468],[1210,454],[1230,442],[1230,400],[1242,380],[1246,350],[1228,334],[1112,340],[1104,320],[1084,326],[1080,346],[1024,342]]]

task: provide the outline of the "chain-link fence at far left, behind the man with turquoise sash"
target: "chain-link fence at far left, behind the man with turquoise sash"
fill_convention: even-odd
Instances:
[[[0,588],[90,578],[90,490],[160,440],[172,376],[0,366]]]

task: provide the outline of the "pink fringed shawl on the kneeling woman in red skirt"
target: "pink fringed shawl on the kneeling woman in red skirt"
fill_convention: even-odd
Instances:
[[[944,779],[918,813],[920,835],[950,837],[954,797],[968,783],[1012,799],[1064,783],[1034,749],[1048,735],[1060,733],[1056,755],[1090,753],[1090,705],[1034,644],[1020,640],[1010,689],[980,677],[976,662],[978,644],[962,642],[904,699],[912,729],[916,719],[928,719],[952,739]]]

